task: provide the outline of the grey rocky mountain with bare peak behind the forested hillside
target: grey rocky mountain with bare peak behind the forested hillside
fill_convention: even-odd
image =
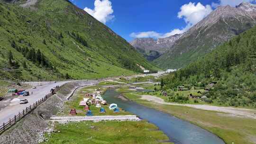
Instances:
[[[209,53],[233,36],[256,26],[256,5],[220,6],[191,27],[154,63],[161,68],[181,68]]]

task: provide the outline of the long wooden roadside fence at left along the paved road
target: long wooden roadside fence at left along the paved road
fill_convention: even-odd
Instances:
[[[18,115],[15,115],[13,118],[10,118],[9,121],[4,122],[1,126],[0,126],[0,134],[2,134],[5,130],[9,129],[11,126],[15,125],[19,120],[21,120],[23,117],[25,117],[28,113],[30,113],[31,111],[33,111],[35,108],[37,108],[37,106],[39,106],[41,103],[43,103],[44,101],[46,101],[46,99],[48,99],[49,97],[51,97],[52,95],[54,95],[58,90],[60,90],[61,87],[57,86],[55,89],[51,90],[51,93],[47,94],[45,97],[43,97],[42,99],[39,99],[38,101],[36,101],[33,105],[30,105],[29,107],[27,107],[26,109],[23,109],[21,112],[18,112]]]

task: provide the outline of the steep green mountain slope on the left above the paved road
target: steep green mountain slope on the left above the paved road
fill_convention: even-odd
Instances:
[[[157,70],[67,0],[7,1],[0,0],[1,79],[99,78],[141,72],[138,65]]]

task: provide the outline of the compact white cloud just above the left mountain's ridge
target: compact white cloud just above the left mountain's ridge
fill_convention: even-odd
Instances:
[[[112,3],[109,0],[95,0],[94,9],[86,7],[83,10],[104,24],[115,17],[112,15],[114,10],[112,9]]]

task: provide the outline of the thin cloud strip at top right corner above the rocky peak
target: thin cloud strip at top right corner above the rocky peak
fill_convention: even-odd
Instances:
[[[242,2],[255,2],[256,0],[219,0],[218,3],[212,2],[211,6],[213,8],[217,8],[218,6],[226,6],[230,5],[231,7],[235,7]]]

